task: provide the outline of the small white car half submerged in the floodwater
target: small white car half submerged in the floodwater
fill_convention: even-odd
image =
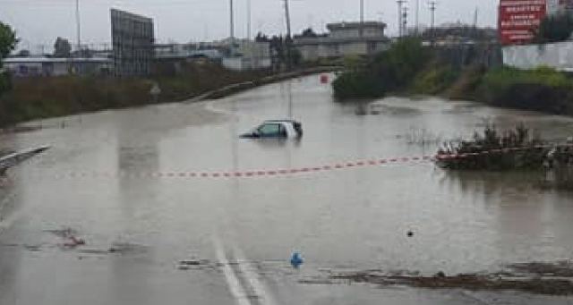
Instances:
[[[269,120],[250,132],[241,135],[243,139],[299,139],[303,137],[303,124],[294,120]]]

